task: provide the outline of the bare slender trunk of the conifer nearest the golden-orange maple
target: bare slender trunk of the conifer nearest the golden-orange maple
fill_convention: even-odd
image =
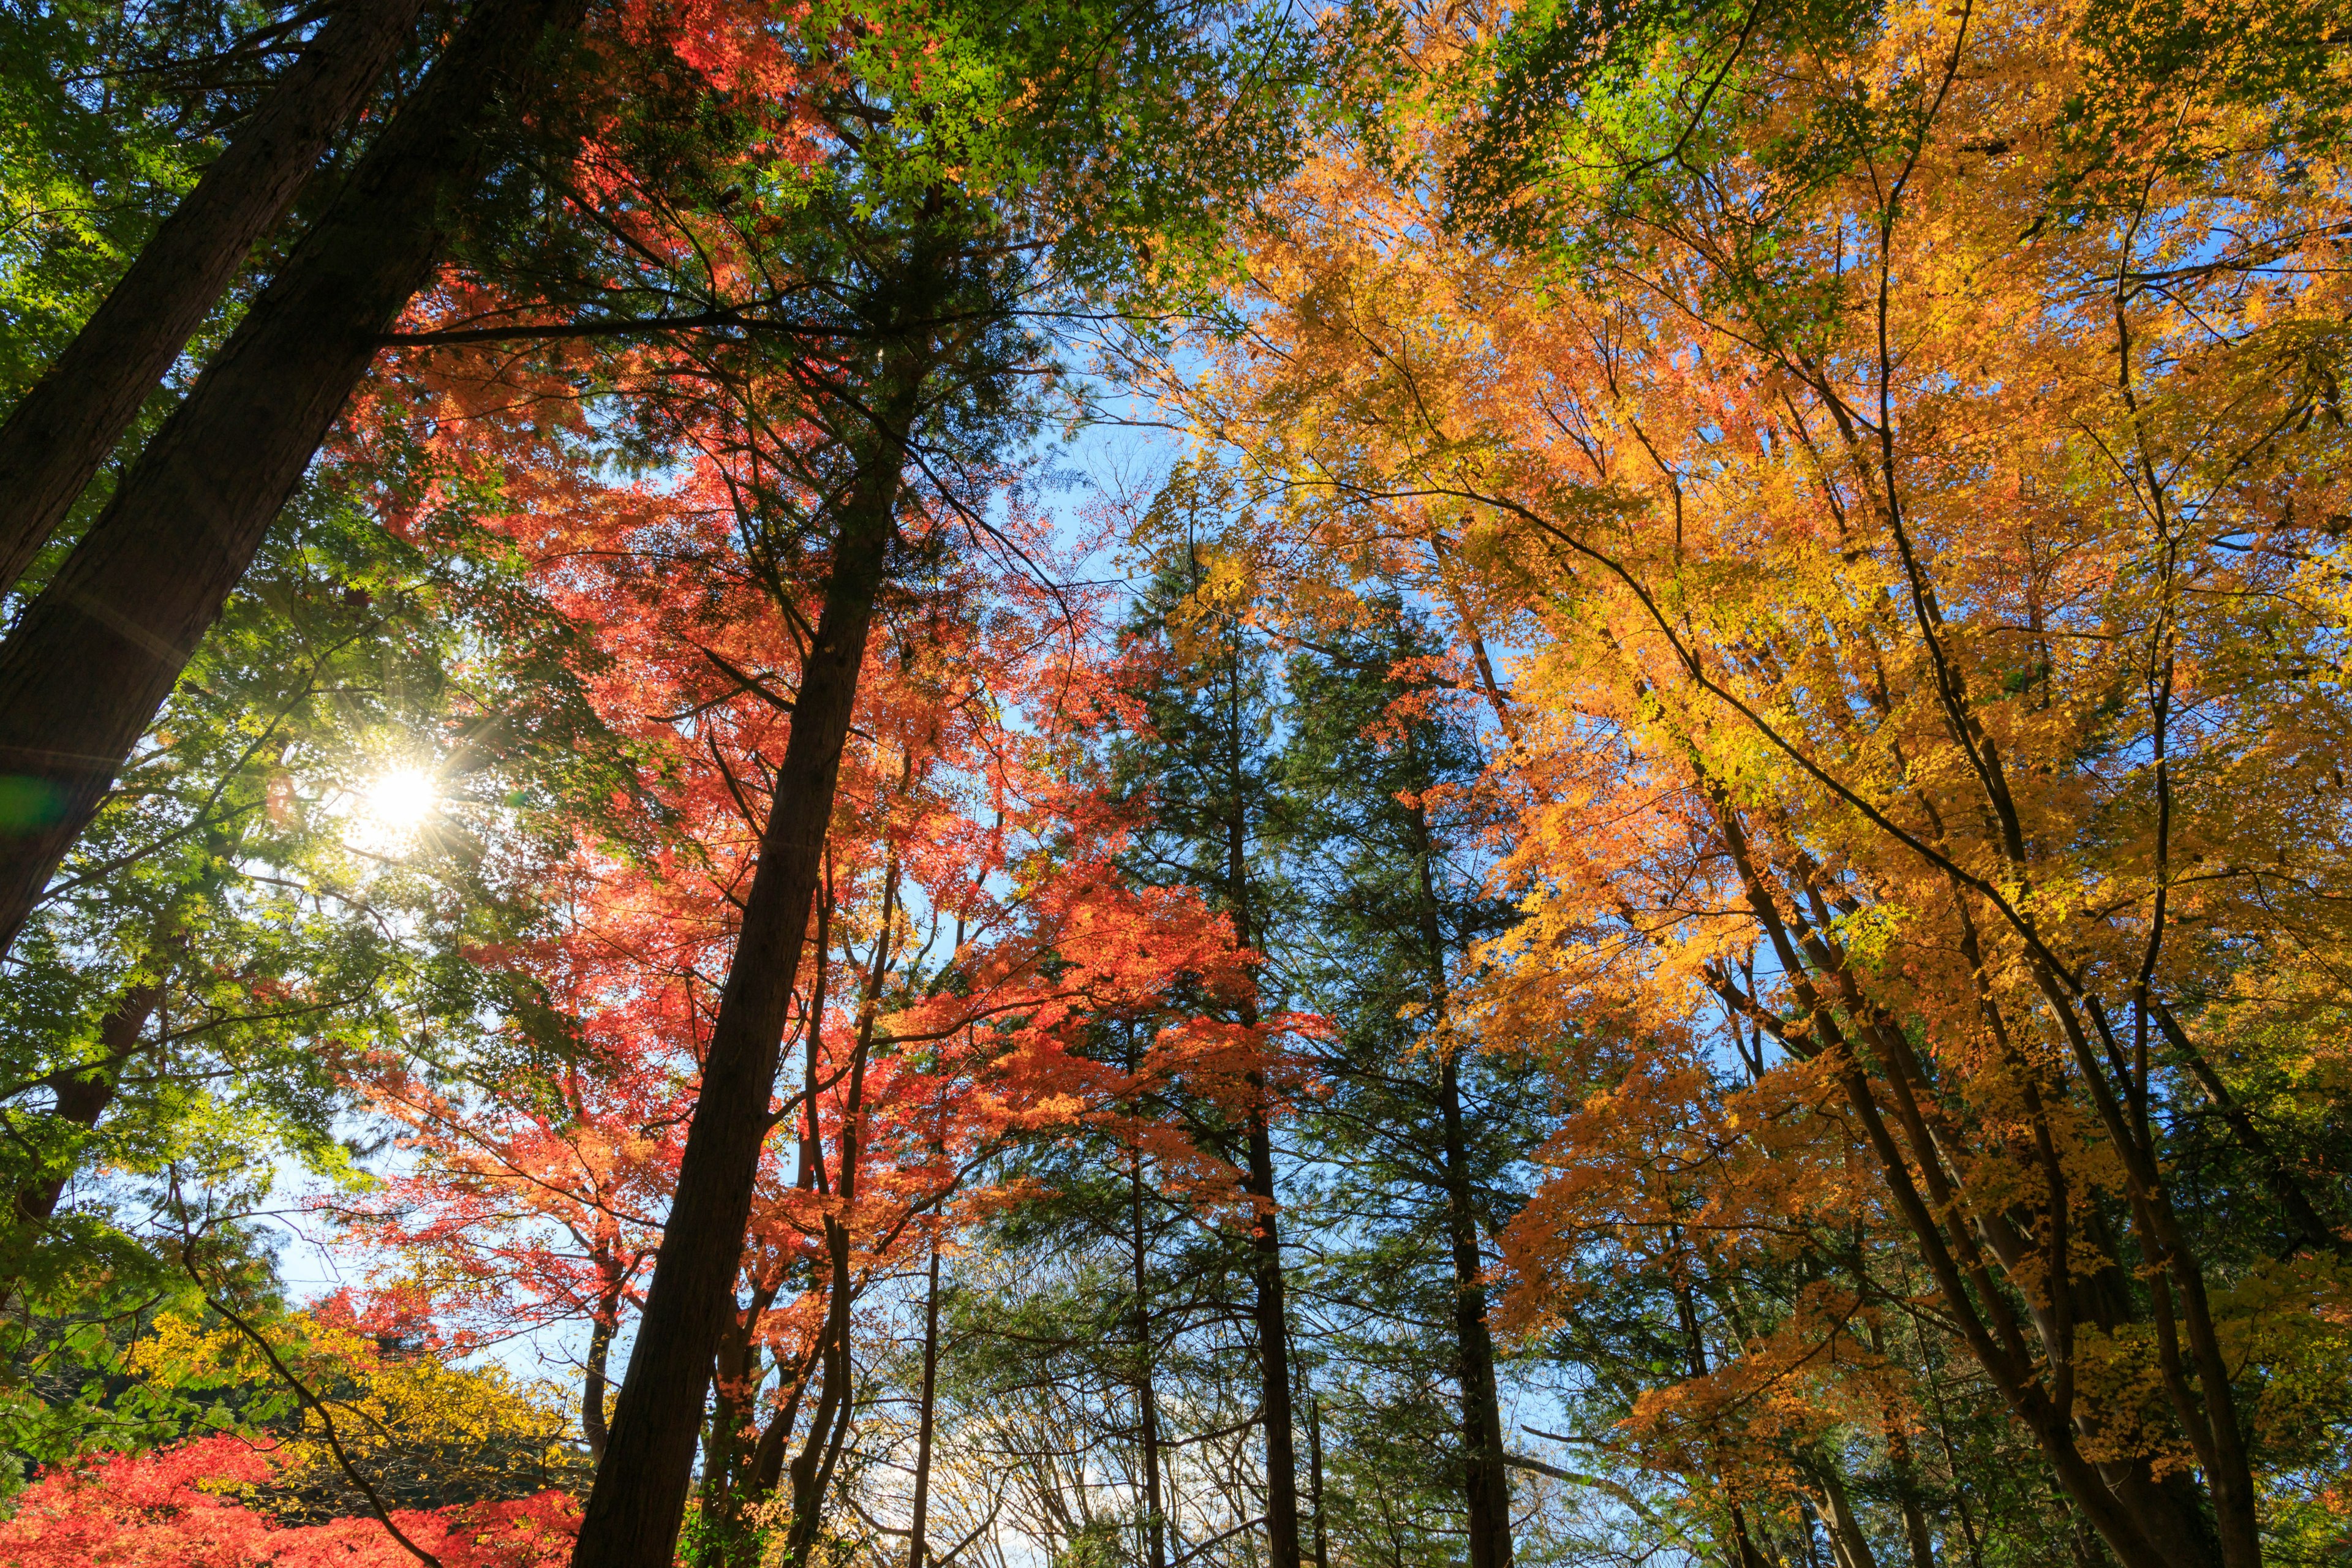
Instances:
[[[1446,940],[1437,917],[1435,842],[1428,811],[1411,809],[1418,865],[1418,919],[1430,1004],[1446,1006]],[[1510,1568],[1510,1472],[1503,1455],[1503,1396],[1494,1375],[1494,1333],[1486,1326],[1486,1284],[1477,1251],[1477,1204],[1470,1190],[1470,1133],[1463,1117],[1461,1058],[1449,1041],[1437,1051],[1437,1128],[1444,1150],[1439,1180],[1446,1199],[1446,1246],[1454,1253],[1454,1347],[1461,1361],[1463,1512],[1470,1528],[1470,1568]]]

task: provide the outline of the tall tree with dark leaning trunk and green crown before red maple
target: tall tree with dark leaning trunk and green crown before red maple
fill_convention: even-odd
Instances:
[[[1014,306],[1037,277],[1033,254],[1058,252],[1063,277],[1084,282],[1110,270],[1108,259],[1131,254],[1124,235],[1192,237],[1200,223],[1183,214],[1188,193],[1223,172],[1247,172],[1265,141],[1254,108],[1209,115],[1200,96],[1141,87],[1098,99],[1103,82],[1091,68],[1068,80],[1068,94],[1028,99],[1035,118],[1000,120],[1000,99],[990,96],[981,110],[962,96],[971,82],[1007,73],[1044,82],[1056,71],[1073,71],[1065,42],[1077,21],[1065,9],[1056,9],[1051,28],[1018,7],[887,19],[844,14],[840,21],[840,33],[826,31],[830,16],[814,19],[807,31],[821,40],[809,47],[830,73],[823,96],[811,94],[807,103],[821,106],[833,122],[807,143],[814,153],[807,174],[779,179],[767,195],[767,205],[807,216],[790,226],[727,223],[724,275],[696,273],[710,252],[687,244],[668,247],[675,263],[661,247],[637,247],[623,259],[659,301],[736,282],[750,284],[762,306],[783,294],[807,308],[807,320],[783,324],[788,341],[840,343],[842,350],[833,360],[793,357],[783,374],[748,383],[762,402],[786,395],[783,407],[793,407],[786,421],[767,425],[788,437],[753,447],[755,461],[771,465],[767,475],[748,475],[755,484],[746,491],[767,505],[774,524],[762,555],[774,569],[790,559],[769,555],[774,545],[793,555],[814,550],[823,559],[826,590],[807,630],[790,738],[776,764],[779,783],[703,1058],[666,1246],[614,1418],[602,1469],[614,1479],[590,1497],[581,1561],[661,1561],[675,1540],[710,1349],[729,1316],[727,1293],[769,1126],[767,1086],[816,907],[840,750],[875,602],[894,550],[903,548],[901,512],[936,482],[943,508],[962,505],[962,515],[976,517],[955,484],[962,477],[955,468],[981,468],[1025,418],[1011,395],[1014,378],[1037,355],[1016,327]],[[1148,52],[1152,71],[1164,68],[1176,80],[1218,82],[1218,73],[1265,59],[1263,49],[1228,47],[1247,40],[1247,28],[1204,40],[1185,16],[1145,21],[1150,26],[1138,28],[1134,16],[1117,19],[1122,49]],[[915,66],[936,45],[967,52],[971,71],[943,78]],[[1143,80],[1152,85],[1155,78]],[[891,103],[887,113],[882,99]],[[901,103],[931,108],[915,113]],[[1171,132],[1169,146],[1185,146],[1190,158],[1152,167],[1150,179],[1136,172],[1098,181],[1124,169],[1089,162],[1105,148],[1096,127],[1110,115]],[[870,136],[875,125],[887,125],[887,134]],[[1018,202],[1000,200],[997,190],[1018,190]],[[701,223],[696,237],[717,230],[720,223]],[[675,287],[680,275],[687,287]],[[600,296],[604,301],[609,294]],[[727,299],[715,320],[699,320],[741,322],[746,336],[757,336],[743,303],[750,301]],[[661,327],[656,313],[649,317]],[[593,317],[583,327],[604,329]],[[501,334],[534,331],[557,329]],[[767,411],[739,409],[731,418],[764,418]],[[802,433],[804,447],[797,444]],[[814,527],[795,529],[795,517]]]

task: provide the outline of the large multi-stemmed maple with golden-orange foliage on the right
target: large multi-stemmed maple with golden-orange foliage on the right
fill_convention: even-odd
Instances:
[[[1261,252],[1263,348],[1202,402],[1289,541],[1531,649],[1529,922],[1477,1027],[1573,1041],[1595,1107],[1715,1128],[1710,1229],[1898,1246],[2124,1563],[2258,1561],[2260,1476],[2300,1462],[2260,1389],[2296,1380],[2343,1246],[2197,1025],[2241,987],[2319,1004],[2284,954],[2336,943],[2333,785],[2234,799],[2338,724],[2310,682],[2333,545],[2300,531],[2333,510],[2333,282],[2303,249],[2333,195],[2239,162],[2333,146],[2312,24],[2239,16],[2194,85],[2159,61],[2204,19],[1531,24],[1472,71],[1503,66],[1494,134],[1529,136],[1494,148],[1534,174],[1479,209],[1505,162],[1472,136],[1454,186],[1519,244],[1437,240],[1425,183],[1334,158]],[[1884,99],[1844,120],[1860,82]],[[1425,169],[1461,150],[1416,134]],[[2230,1128],[2284,1262],[2187,1201],[2213,1173],[2180,1119]],[[1625,1126],[1592,1126],[1597,1166],[1564,1147],[1517,1227],[1538,1321],[1585,1215],[1670,1201]],[[1856,1321],[1823,1302],[1693,1363],[1682,1408],[1722,1422]]]

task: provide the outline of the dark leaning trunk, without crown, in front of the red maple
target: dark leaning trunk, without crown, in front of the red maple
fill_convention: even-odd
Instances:
[[[929,299],[910,287],[901,320]],[[710,1389],[710,1352],[734,1312],[734,1276],[750,1222],[760,1145],[769,1133],[776,1056],[833,820],[833,785],[858,696],[858,668],[882,588],[906,435],[929,364],[924,341],[894,346],[873,400],[877,428],[840,510],[833,576],[793,701],[793,733],[776,769],[760,870],[743,900],[736,959],[703,1058],[703,1084],[677,1166],[661,1258],[644,1293],[637,1342],[597,1465],[574,1568],[668,1568],[694,1474],[694,1436]]]

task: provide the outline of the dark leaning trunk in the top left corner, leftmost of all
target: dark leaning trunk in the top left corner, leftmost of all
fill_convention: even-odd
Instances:
[[[343,0],[9,411],[0,425],[0,590],[16,585],[56,531],[254,240],[294,205],[419,9],[423,0]]]

